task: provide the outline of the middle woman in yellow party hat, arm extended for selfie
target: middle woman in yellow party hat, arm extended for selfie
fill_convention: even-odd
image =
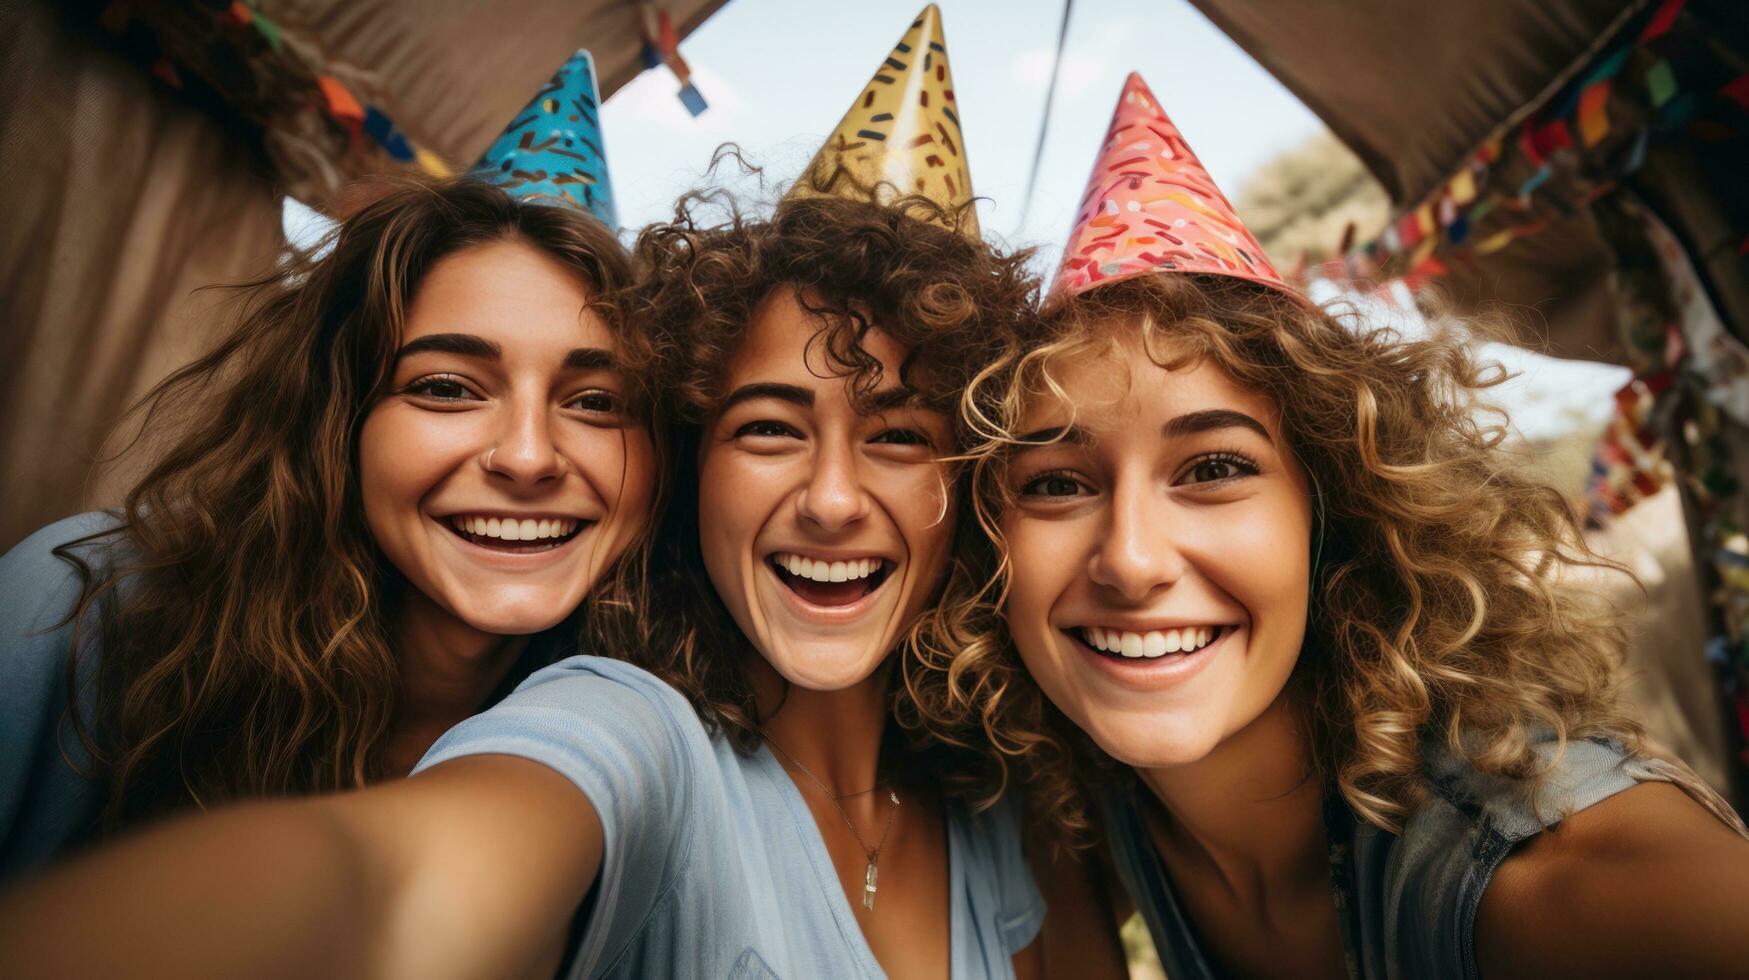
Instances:
[[[911,154],[925,119],[880,100],[951,121],[944,56],[930,7],[888,60],[909,80],[871,82],[840,135],[897,117],[885,145]],[[413,779],[189,821],[45,878],[0,903],[19,950],[0,971],[1037,976],[1016,808],[988,807],[976,754],[902,730],[930,696],[911,626],[976,541],[953,406],[1037,284],[976,238],[964,170],[916,186],[850,142],[768,222],[701,228],[682,203],[638,240],[626,306],[658,341],[687,492],[598,648],[623,660],[535,674]],[[252,838],[280,849],[229,858]],[[63,947],[56,910],[108,922],[89,901],[117,877],[131,901],[283,884],[271,915],[149,900],[112,942]],[[1065,968],[1119,975],[1104,952]]]

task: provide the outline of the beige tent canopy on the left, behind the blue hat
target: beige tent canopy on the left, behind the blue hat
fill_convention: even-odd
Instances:
[[[686,37],[722,4],[658,7]],[[252,0],[229,10],[261,18],[283,60],[177,60],[210,40],[217,9],[0,0],[0,551],[115,502],[117,481],[93,471],[100,439],[206,346],[224,296],[196,290],[271,266],[287,191],[331,206],[345,178],[402,166],[331,152],[345,149],[332,128],[287,110],[308,102],[280,91],[287,63],[341,80],[455,170],[574,49],[595,52],[603,96],[642,70],[628,0]],[[138,51],[154,32],[164,58]]]

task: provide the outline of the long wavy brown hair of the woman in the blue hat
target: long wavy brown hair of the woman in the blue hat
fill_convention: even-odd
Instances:
[[[68,702],[96,651],[94,709],[73,724],[107,782],[105,828],[387,775],[399,677],[385,606],[411,586],[364,522],[359,427],[423,276],[500,240],[598,296],[633,280],[624,247],[577,208],[467,178],[397,182],[315,252],[236,287],[224,340],[135,408],[157,450],[119,527],[56,550],[84,579]],[[649,345],[614,304],[595,308],[638,376]],[[108,560],[87,560],[94,539]],[[630,604],[640,569],[621,562],[584,607]]]

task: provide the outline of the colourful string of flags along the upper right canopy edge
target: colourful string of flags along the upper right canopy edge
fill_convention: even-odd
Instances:
[[[1662,0],[1625,37],[1525,119],[1495,130],[1418,205],[1347,248],[1348,280],[1443,276],[1452,259],[1490,256],[1613,192],[1649,142],[1676,130],[1723,142],[1749,112],[1749,72],[1730,74],[1686,0]],[[1518,177],[1522,175],[1522,177]],[[1516,177],[1515,180],[1508,180]],[[1749,236],[1742,252],[1749,254]]]

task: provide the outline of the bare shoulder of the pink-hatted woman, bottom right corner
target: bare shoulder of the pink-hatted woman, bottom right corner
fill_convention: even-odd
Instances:
[[[1485,975],[1723,975],[1749,961],[1749,840],[1648,780],[1525,840],[1476,915]]]

